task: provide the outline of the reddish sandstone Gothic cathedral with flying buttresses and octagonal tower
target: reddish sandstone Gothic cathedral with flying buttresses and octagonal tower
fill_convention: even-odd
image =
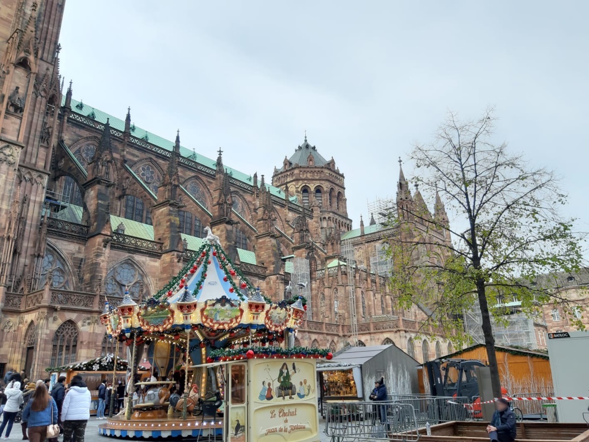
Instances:
[[[104,299],[116,305],[125,288],[137,302],[153,296],[206,227],[267,296],[306,297],[297,345],[394,344],[420,362],[452,352],[440,330],[423,329],[425,306],[395,308],[383,248],[402,233],[374,219],[352,229],[333,157],[305,136],[269,179],[229,167],[239,158],[221,150],[212,159],[183,146],[179,133],[168,141],[135,126],[130,110],[117,118],[75,100],[59,72],[64,4],[0,8],[0,375],[38,378],[114,352],[98,321]],[[402,170],[396,187],[395,215],[403,204],[427,210]],[[432,216],[447,226],[441,201]],[[442,227],[401,222],[449,242]]]

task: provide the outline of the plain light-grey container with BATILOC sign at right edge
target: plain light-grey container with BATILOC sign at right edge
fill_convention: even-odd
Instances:
[[[548,333],[550,370],[556,397],[589,396],[589,333],[582,331]],[[588,400],[560,400],[559,422],[587,419]]]

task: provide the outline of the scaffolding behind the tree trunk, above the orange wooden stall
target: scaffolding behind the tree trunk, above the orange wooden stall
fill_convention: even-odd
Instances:
[[[534,319],[521,312],[520,302],[502,304],[507,312],[499,319],[491,318],[491,326],[497,345],[518,345],[525,348],[538,348]],[[485,337],[482,332],[481,306],[478,300],[472,308],[464,311],[464,328],[475,344],[484,344]]]

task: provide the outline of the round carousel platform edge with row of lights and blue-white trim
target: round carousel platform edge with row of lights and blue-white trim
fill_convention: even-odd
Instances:
[[[180,416],[137,419],[124,416],[108,418],[106,423],[98,425],[98,434],[111,437],[148,438],[148,437],[206,437],[215,438],[223,434],[223,418],[203,418],[189,416],[183,420]]]

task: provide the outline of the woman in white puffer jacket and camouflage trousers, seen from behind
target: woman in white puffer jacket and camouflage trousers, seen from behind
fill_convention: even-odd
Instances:
[[[86,424],[90,419],[92,397],[80,375],[72,377],[70,389],[65,394],[61,406],[61,421],[64,424],[64,441],[70,442],[74,434],[75,442],[84,442]]]

